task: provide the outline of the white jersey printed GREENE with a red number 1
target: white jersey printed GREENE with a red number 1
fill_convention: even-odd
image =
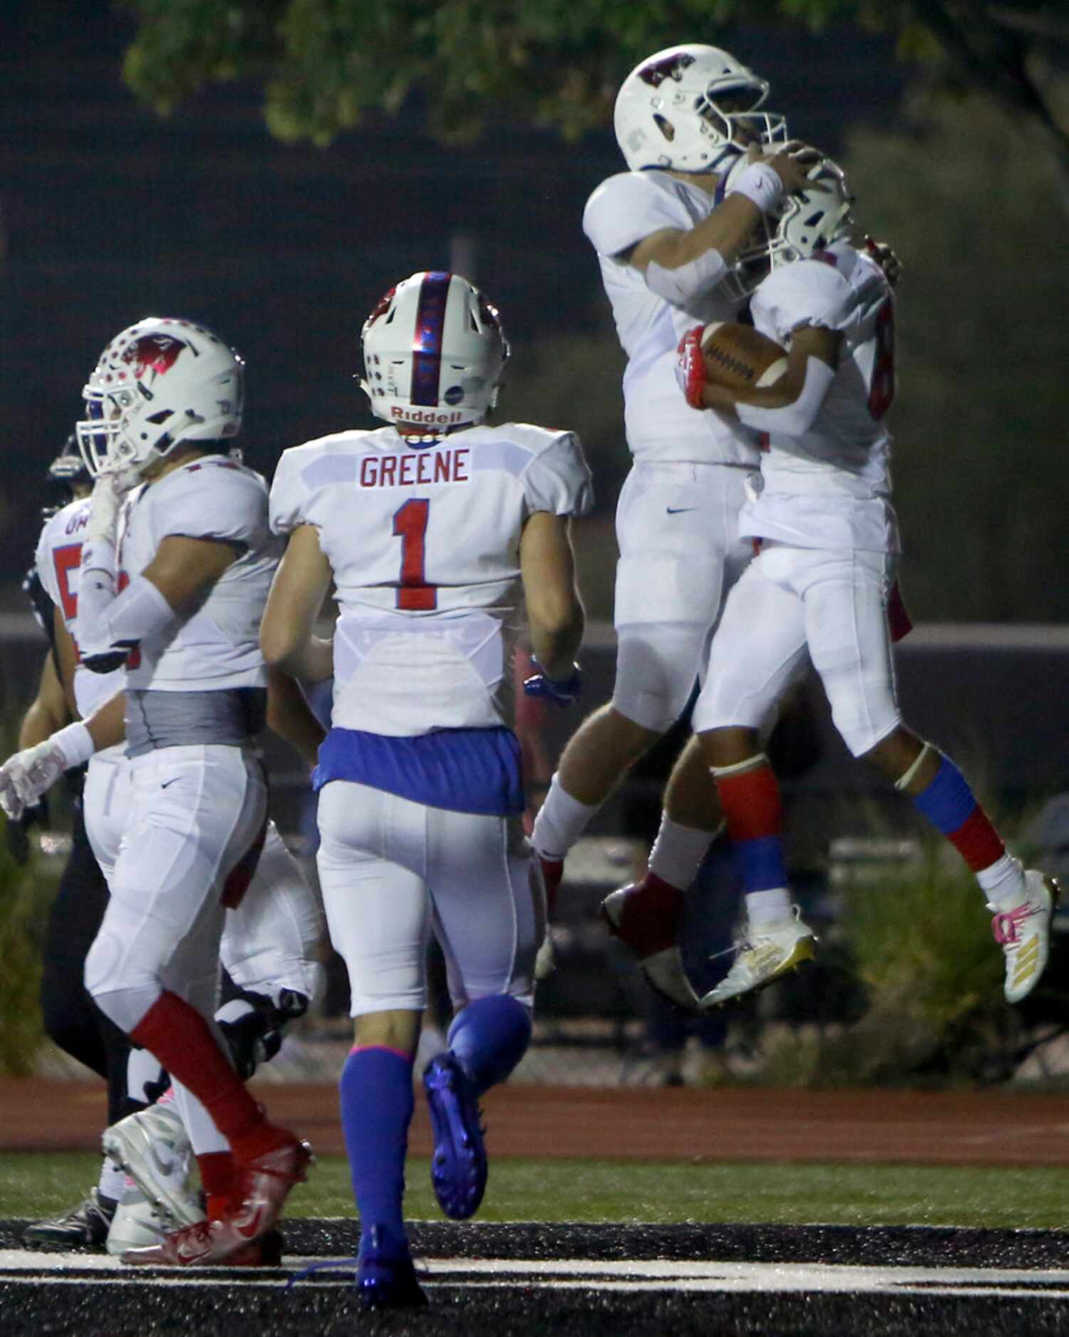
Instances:
[[[510,725],[524,523],[591,503],[576,437],[526,424],[424,445],[384,427],[286,451],[271,528],[315,525],[334,572],[333,723],[393,737]]]

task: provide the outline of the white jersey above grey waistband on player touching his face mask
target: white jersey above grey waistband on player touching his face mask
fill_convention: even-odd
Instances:
[[[259,622],[281,554],[267,524],[266,483],[227,456],[208,455],[143,484],[123,508],[119,586],[140,575],[172,535],[230,543],[241,555],[191,618],[139,643],[127,660],[127,687],[265,687]]]

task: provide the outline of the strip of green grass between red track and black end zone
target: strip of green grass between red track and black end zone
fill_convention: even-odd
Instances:
[[[98,1166],[84,1152],[0,1155],[0,1217],[71,1206]],[[408,1179],[405,1214],[441,1219],[428,1162],[412,1161]],[[351,1215],[343,1158],[321,1157],[287,1211]],[[497,1159],[478,1219],[1060,1229],[1069,1226],[1069,1170]]]

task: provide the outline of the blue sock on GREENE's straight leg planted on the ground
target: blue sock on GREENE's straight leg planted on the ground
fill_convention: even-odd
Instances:
[[[354,1048],[345,1060],[338,1091],[361,1238],[378,1225],[406,1247],[401,1198],[414,1106],[412,1059],[375,1046]]]

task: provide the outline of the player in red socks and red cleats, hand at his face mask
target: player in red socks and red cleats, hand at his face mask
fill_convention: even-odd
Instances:
[[[180,320],[150,317],[104,349],[78,427],[96,483],[75,642],[94,673],[122,667],[124,691],[0,770],[4,797],[25,802],[126,737],[132,797],[86,984],[171,1074],[208,1205],[207,1221],[130,1262],[266,1261],[310,1155],[245,1090],[212,1016],[226,909],[266,834],[251,741],[266,715],[257,630],[277,544],[263,480],[226,449],[242,370],[215,334]]]

